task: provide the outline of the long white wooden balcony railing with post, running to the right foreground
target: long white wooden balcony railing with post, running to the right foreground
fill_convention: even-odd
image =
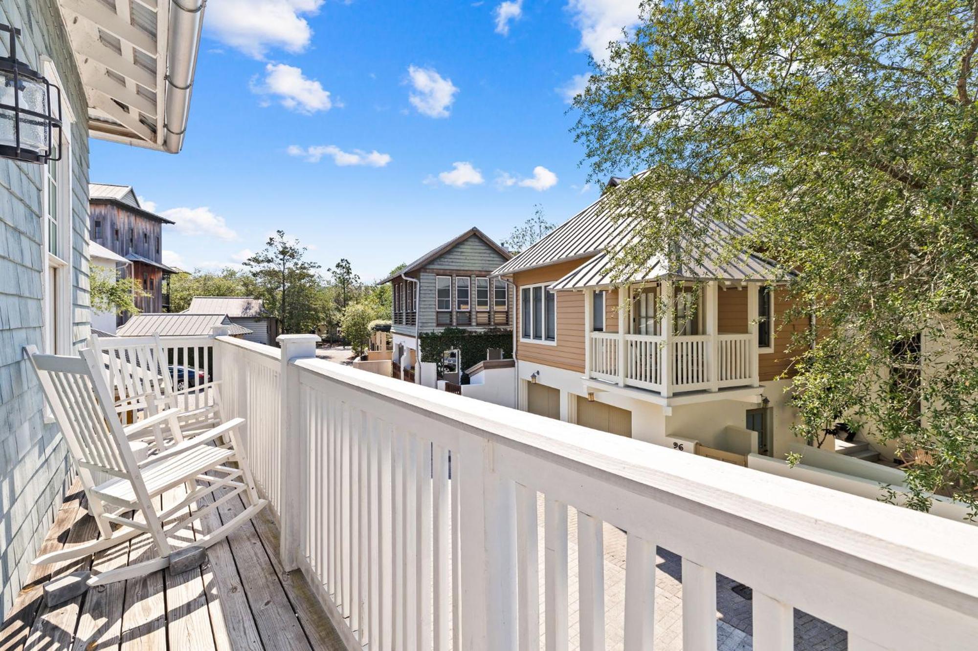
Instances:
[[[308,342],[280,356],[217,341],[253,472],[262,491],[279,487],[283,563],[349,649],[566,649],[569,576],[580,648],[602,649],[605,522],[627,532],[626,651],[656,633],[656,545],[683,557],[689,651],[717,648],[718,572],[753,588],[758,651],[792,648],[794,608],[847,630],[852,651],[978,639],[973,527],[301,359]],[[266,417],[276,401],[281,425]]]

